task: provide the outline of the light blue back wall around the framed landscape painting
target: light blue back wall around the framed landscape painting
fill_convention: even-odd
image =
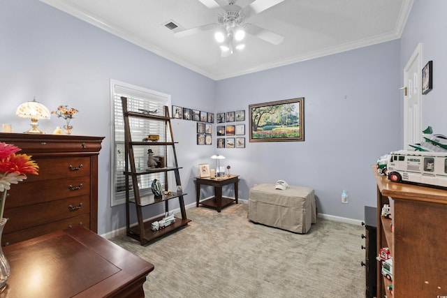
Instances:
[[[399,52],[395,40],[217,82],[218,111],[248,115],[249,104],[305,98],[305,142],[221,149],[241,174],[242,197],[254,184],[284,179],[314,188],[318,212],[363,218],[363,206],[376,204],[369,165],[399,145]],[[341,202],[343,189],[349,204]]]

